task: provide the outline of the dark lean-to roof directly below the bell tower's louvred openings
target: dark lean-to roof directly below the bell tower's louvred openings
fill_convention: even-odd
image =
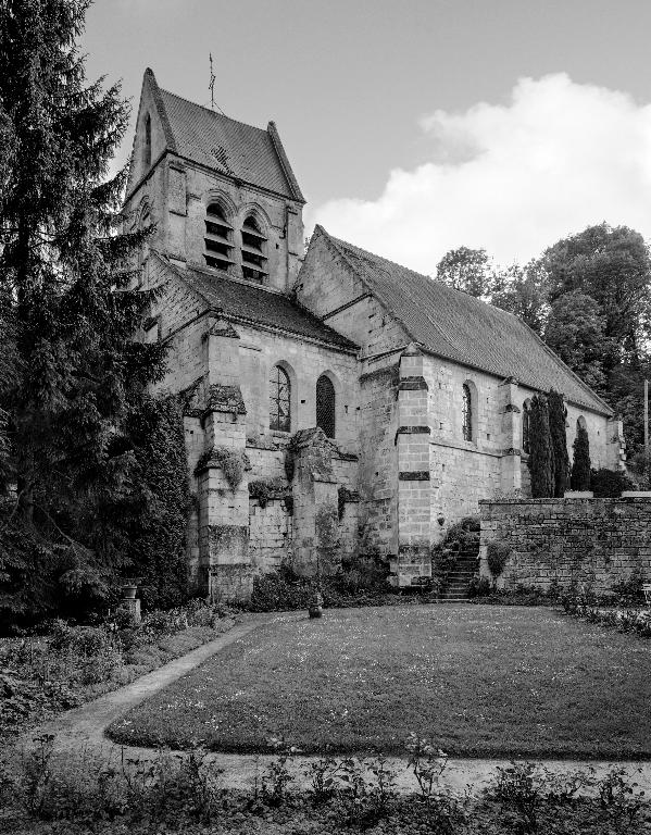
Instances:
[[[176,267],[158,252],[152,254],[157,282],[164,278],[165,271],[173,272],[208,308],[222,312],[226,317],[281,328],[348,351],[354,352],[359,348],[283,292],[236,281],[216,270]]]

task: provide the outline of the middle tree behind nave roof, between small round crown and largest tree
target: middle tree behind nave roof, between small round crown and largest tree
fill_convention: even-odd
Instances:
[[[531,331],[542,333],[549,309],[547,272],[540,261],[513,264],[496,273],[490,303],[522,319]]]

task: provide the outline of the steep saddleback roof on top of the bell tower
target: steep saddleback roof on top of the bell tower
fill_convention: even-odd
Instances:
[[[161,89],[149,67],[142,79],[141,101],[146,90],[154,102],[168,151],[248,185],[305,202],[274,122],[263,129],[195,104]]]

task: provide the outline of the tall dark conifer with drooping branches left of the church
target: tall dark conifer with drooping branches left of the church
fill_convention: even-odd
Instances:
[[[17,484],[11,519],[51,545],[58,570],[77,582],[118,557],[101,507],[128,489],[134,456],[122,428],[164,359],[161,346],[132,340],[151,301],[129,289],[146,233],[118,234],[126,172],[107,175],[128,109],[118,85],[86,83],[77,40],[89,4],[0,3],[0,301],[13,328],[0,410]],[[0,576],[1,563],[0,553]]]

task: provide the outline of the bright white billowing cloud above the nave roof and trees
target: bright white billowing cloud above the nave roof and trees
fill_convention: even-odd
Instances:
[[[428,274],[462,245],[524,262],[604,220],[651,237],[651,105],[626,94],[522,78],[509,103],[437,110],[421,129],[427,162],[391,171],[377,200],[330,200],[308,219]]]

